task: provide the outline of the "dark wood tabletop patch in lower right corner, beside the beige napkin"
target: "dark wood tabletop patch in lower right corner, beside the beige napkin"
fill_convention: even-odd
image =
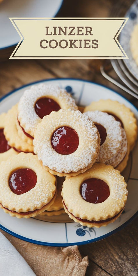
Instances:
[[[105,240],[80,246],[80,253],[89,252],[89,259],[109,275],[136,276],[138,271],[137,230],[138,220],[136,219]]]

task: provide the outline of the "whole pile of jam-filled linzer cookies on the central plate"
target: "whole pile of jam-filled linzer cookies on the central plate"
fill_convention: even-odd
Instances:
[[[89,227],[122,213],[120,172],[137,138],[128,107],[112,100],[79,111],[64,89],[39,84],[0,115],[0,207],[18,218],[67,213]]]

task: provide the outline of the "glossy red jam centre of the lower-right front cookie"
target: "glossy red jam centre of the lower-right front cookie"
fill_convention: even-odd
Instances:
[[[105,181],[97,178],[90,178],[82,183],[80,193],[82,198],[87,202],[101,203],[109,197],[110,190]]]

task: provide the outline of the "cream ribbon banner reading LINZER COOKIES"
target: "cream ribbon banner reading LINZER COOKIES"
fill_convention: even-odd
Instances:
[[[21,37],[10,59],[128,59],[117,40],[128,18],[10,20]]]

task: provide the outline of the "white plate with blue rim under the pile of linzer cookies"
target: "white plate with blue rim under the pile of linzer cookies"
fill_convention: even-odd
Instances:
[[[128,100],[100,84],[77,79],[52,79],[41,82],[59,85],[63,88],[70,86],[70,93],[72,93],[78,105],[89,105],[91,101],[100,99],[118,100],[127,107],[130,107],[138,118],[137,109],[128,102]],[[23,86],[4,96],[0,102],[1,112],[6,112],[12,105],[15,105],[19,101],[24,90],[31,85],[32,84]],[[135,161],[133,162],[133,160]],[[80,224],[72,222],[67,214],[50,218],[44,218],[39,215],[37,218],[17,219],[16,217],[10,217],[9,214],[4,213],[2,209],[0,209],[0,227],[4,231],[22,240],[49,246],[81,245],[106,238],[125,227],[136,217],[138,209],[137,164],[138,146],[136,146],[135,151],[131,153],[127,168],[123,172],[125,181],[128,183],[128,200],[125,210],[114,223],[109,224],[107,227],[83,227]]]

